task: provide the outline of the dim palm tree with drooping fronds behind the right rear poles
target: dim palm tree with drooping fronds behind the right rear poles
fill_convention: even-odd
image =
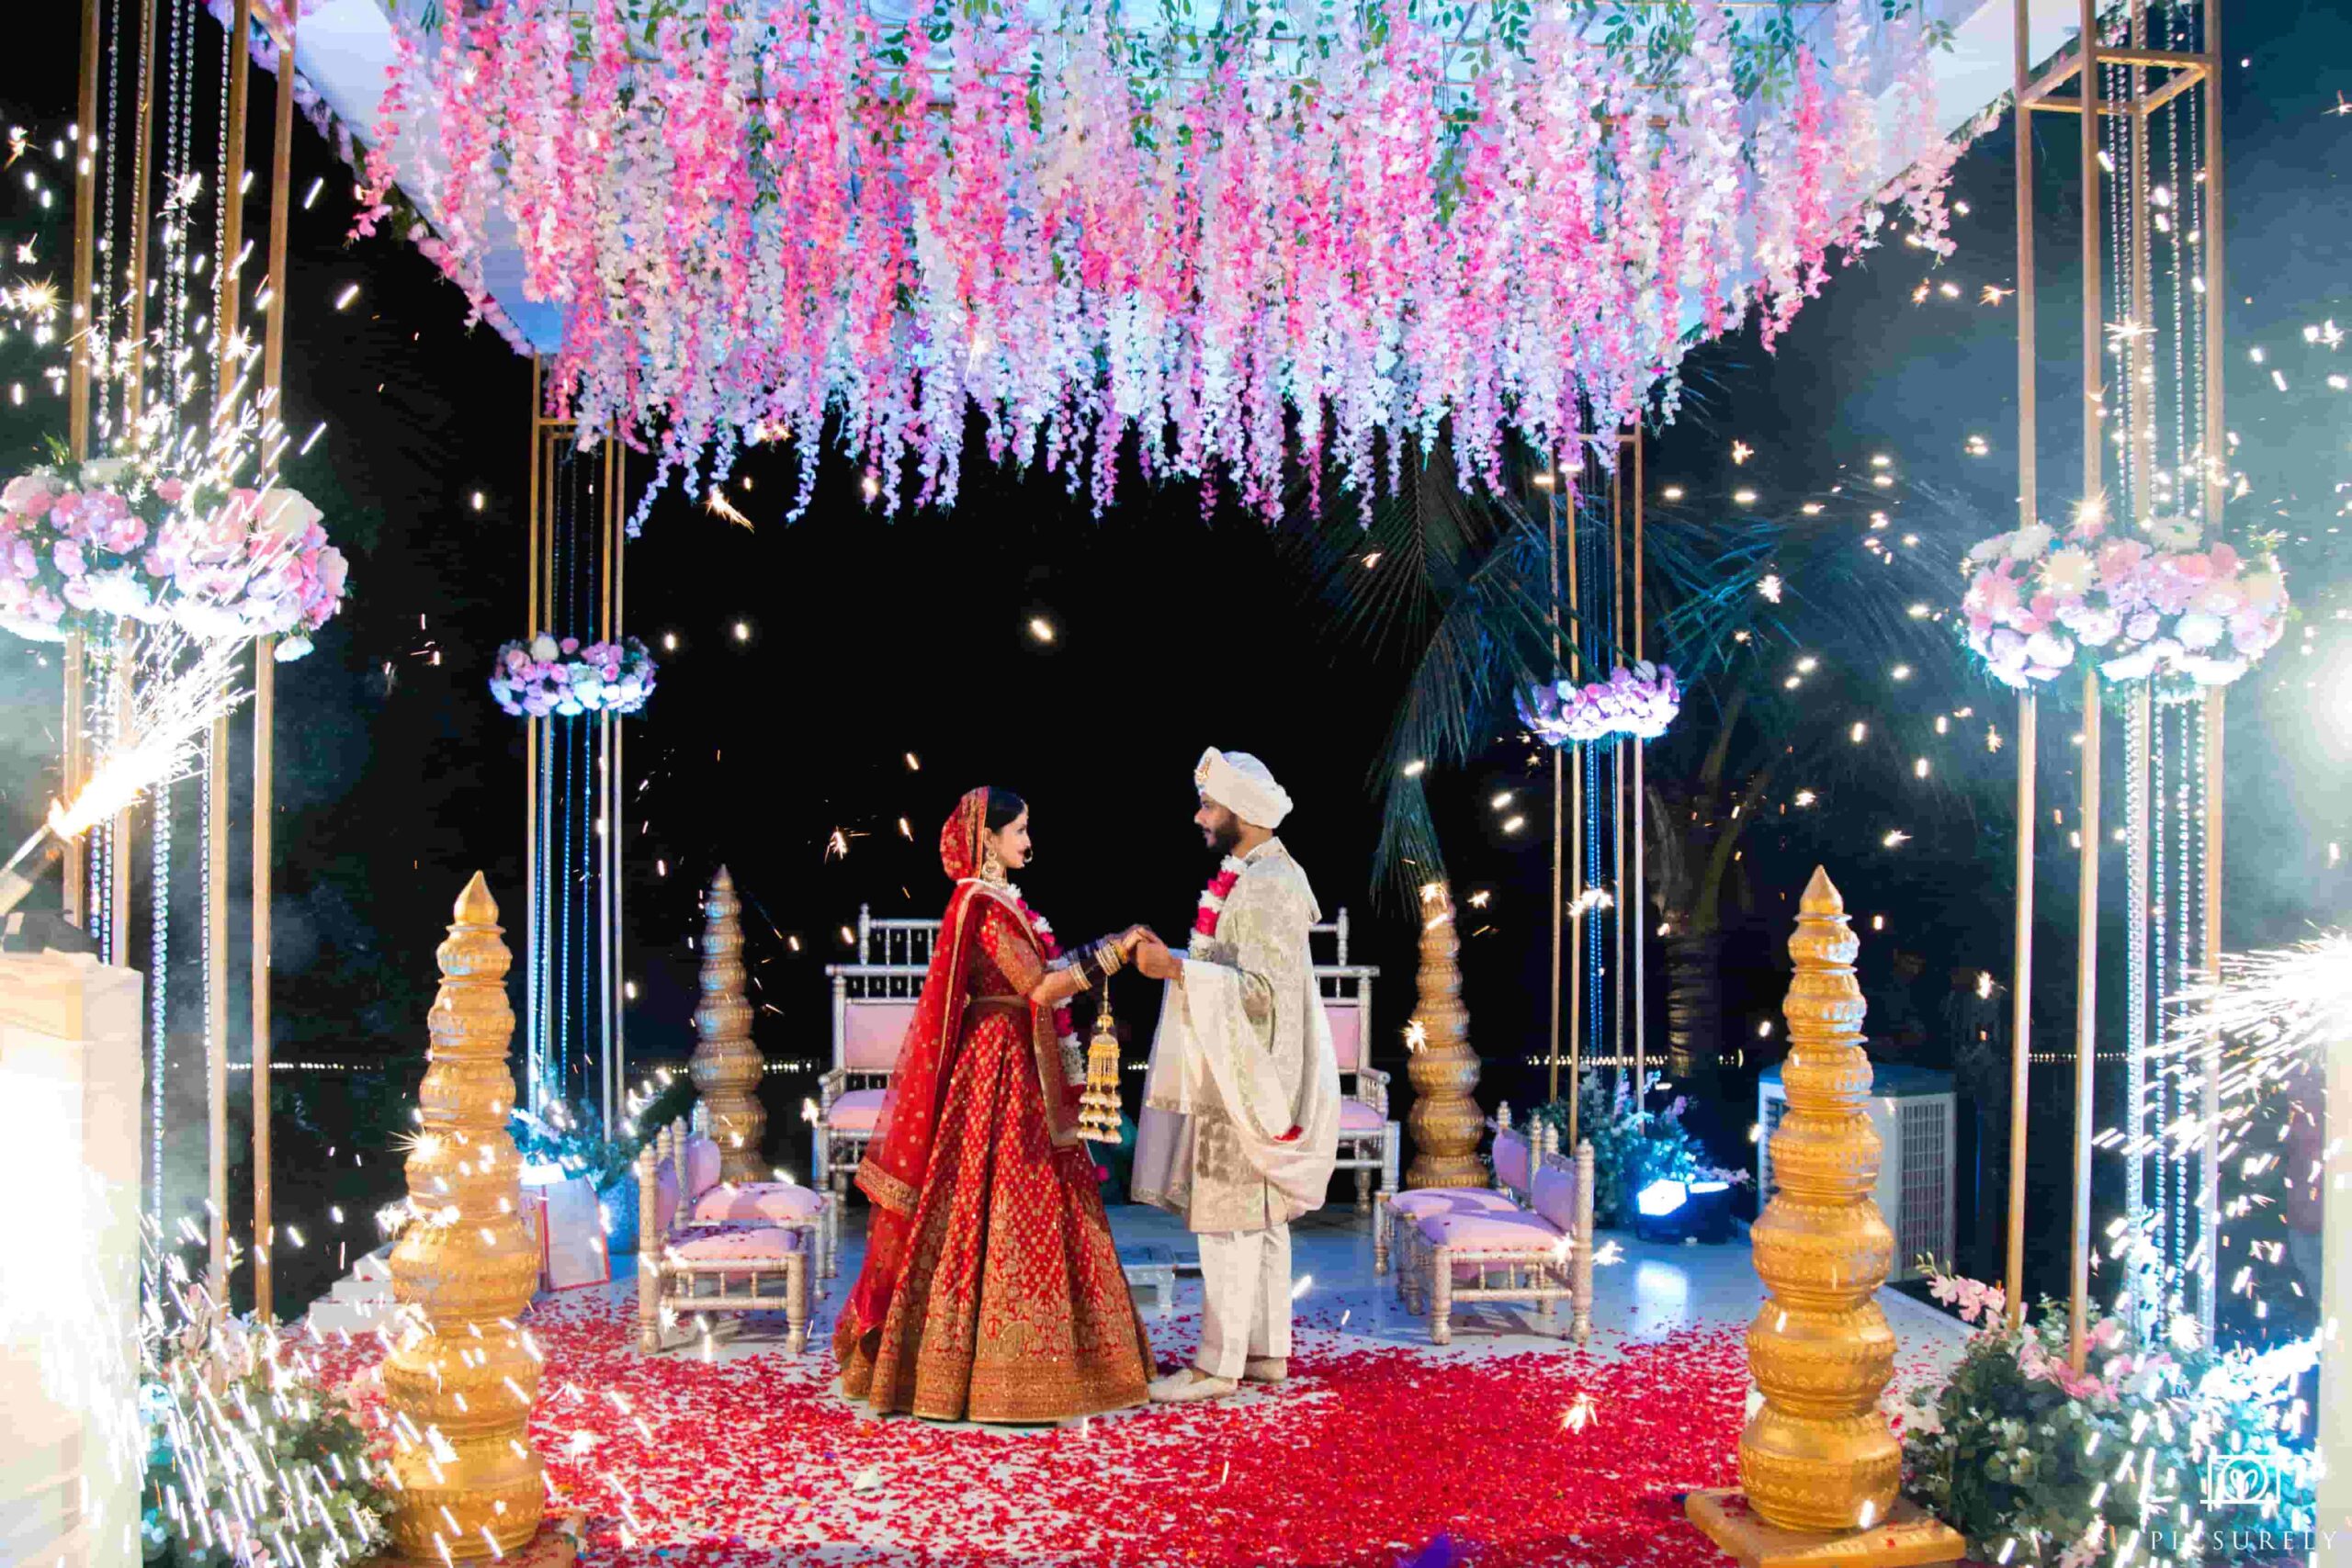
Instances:
[[[1543,512],[1508,489],[1463,489],[1442,451],[1404,470],[1362,522],[1305,538],[1341,635],[1399,663],[1369,785],[1383,820],[1376,884],[1409,900],[1444,875],[1425,771],[1468,766],[1517,729],[1512,691],[1559,675],[1552,614],[1564,607]],[[1757,820],[1835,797],[1851,844],[1858,830],[1882,842],[1905,832],[1900,816],[1917,827],[1924,809],[1973,809],[1987,769],[1912,773],[1936,715],[1992,715],[1990,689],[1940,623],[1959,552],[1987,531],[1952,496],[1877,484],[1837,484],[1797,522],[1705,501],[1651,510],[1651,649],[1684,684],[1684,712],[1646,766],[1649,900],[1677,1079],[1724,1044],[1722,947],[1750,905],[1743,851]],[[1905,795],[1882,790],[1898,778]]]

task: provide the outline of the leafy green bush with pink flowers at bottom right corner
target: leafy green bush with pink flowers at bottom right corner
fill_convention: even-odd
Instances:
[[[1915,1389],[1903,1413],[1903,1490],[1976,1561],[2300,1561],[2288,1547],[2312,1526],[2312,1490],[2253,1356],[2140,1345],[2107,1319],[2093,1382],[2070,1392],[2063,1302],[2020,1328],[1990,1319],[1950,1382]]]

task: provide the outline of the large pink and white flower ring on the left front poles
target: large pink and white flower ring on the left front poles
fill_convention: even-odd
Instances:
[[[343,588],[320,510],[282,484],[221,489],[92,458],[0,487],[0,628],[19,637],[169,623],[198,642],[278,637],[289,661]]]

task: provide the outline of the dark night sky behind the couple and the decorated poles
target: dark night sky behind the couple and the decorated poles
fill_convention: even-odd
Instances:
[[[12,28],[14,47],[0,63],[0,110],[38,146],[64,134],[75,82],[71,7],[42,9],[56,19]],[[2352,364],[2305,343],[2303,327],[2331,315],[2352,322],[2343,284],[2352,214],[2338,176],[2352,118],[2326,113],[2347,85],[2336,66],[2352,59],[2352,19],[2328,5],[2239,5],[2227,21],[2230,425],[2251,480],[2232,517],[2274,512],[2303,625],[2319,628],[2314,654],[2298,654],[2305,637],[2293,625],[2272,661],[2230,693],[2225,940],[2244,947],[2340,922],[2345,907],[2347,872],[2328,844],[2352,837],[2340,783],[2352,762],[2352,705],[2343,698],[2352,665],[2333,618],[2345,576],[2336,489],[2352,477],[2352,404],[2324,378]],[[216,61],[209,16],[198,35],[205,59]],[[256,73],[254,82],[266,103],[270,78]],[[2037,132],[2049,172],[2072,148],[2074,122],[2046,118]],[[263,169],[266,136],[256,110],[252,146]],[[59,181],[38,153],[28,162],[59,200],[40,212],[21,181],[0,188],[0,233],[12,244],[38,237],[38,261],[12,277],[64,282],[71,179]],[[318,651],[282,668],[278,682],[275,1048],[332,1070],[280,1074],[275,1105],[287,1190],[280,1222],[325,1232],[327,1204],[358,1213],[397,1197],[397,1166],[374,1150],[405,1121],[421,1072],[433,945],[473,870],[489,875],[520,943],[522,726],[492,705],[482,682],[492,649],[532,630],[532,371],[489,329],[466,327],[461,294],[409,244],[346,242],[350,172],[301,129],[296,197],[313,181],[322,190],[296,214],[289,266],[287,423],[308,433],[325,421],[327,435],[292,463],[289,480],[325,505],[329,534],[353,559],[353,592]],[[1952,195],[1969,205],[1955,221],[1952,261],[1931,270],[1922,252],[1872,252],[1832,277],[1776,355],[1738,334],[1691,357],[1684,414],[1653,433],[1646,463],[1653,496],[1668,484],[1686,489],[1686,505],[1665,510],[1668,520],[1710,508],[1722,515],[1740,484],[1759,489],[1764,510],[1785,510],[1867,473],[1870,454],[1891,454],[1903,484],[1889,505],[1910,508],[1903,524],[1922,531],[1924,550],[1950,562],[2013,527],[2013,313],[1980,303],[1985,284],[2016,282],[2006,120],[1962,160]],[[2042,254],[2053,259],[2044,266],[2058,273],[2042,292],[2042,473],[2044,496],[2063,496],[2051,475],[2074,463],[2070,376],[2079,371],[2067,355],[2079,296],[2060,263],[2072,259],[2077,219],[2067,186],[2049,174],[2042,212]],[[256,181],[249,233],[263,223]],[[1931,292],[1915,303],[1924,277],[1955,282],[1957,299]],[[353,284],[358,294],[339,310]],[[2265,364],[2249,360],[2251,346],[2267,346]],[[24,407],[0,404],[0,454],[12,465],[38,461],[40,437],[64,425],[64,402],[38,378],[42,362],[19,336],[0,343],[0,378],[26,383]],[[2272,369],[2288,390],[2274,386]],[[1985,437],[1985,456],[1971,456],[1971,435]],[[1733,442],[1755,458],[1733,465]],[[642,458],[633,465],[640,480],[647,470]],[[1383,966],[1378,1060],[1399,1070],[1404,1088],[1399,1037],[1418,922],[1392,903],[1376,905],[1369,875],[1378,832],[1369,771],[1404,665],[1395,644],[1336,632],[1334,604],[1310,571],[1315,557],[1348,548],[1355,522],[1345,508],[1322,524],[1204,520],[1195,489],[1129,482],[1120,505],[1094,520],[1058,477],[1004,475],[974,458],[955,512],[882,520],[861,505],[851,475],[828,463],[814,512],[786,524],[793,454],[762,449],[739,477],[748,484],[729,494],[753,529],[668,496],[628,555],[626,630],[656,644],[663,668],[647,715],[628,722],[633,1060],[675,1060],[691,1046],[684,938],[699,929],[699,889],[727,863],[748,905],[757,1039],[774,1060],[821,1063],[821,966],[847,957],[837,929],[861,903],[877,914],[936,912],[946,896],[938,823],[978,783],[1030,799],[1040,860],[1023,889],[1065,938],[1136,919],[1181,931],[1211,870],[1188,820],[1190,766],[1204,745],[1221,745],[1258,752],[1296,797],[1284,839],[1327,912],[1345,905],[1355,917],[1362,959]],[[1943,604],[1959,595],[1957,576],[1947,583]],[[1033,635],[1033,618],[1051,623],[1051,642]],[[677,637],[675,654],[659,649],[663,635]],[[1929,656],[1962,658],[1943,628],[1922,635]],[[1978,686],[1987,712],[2011,710],[2006,693]],[[1872,708],[1889,724],[1926,719],[1900,693],[1858,684],[1823,701]],[[1712,719],[1708,703],[1686,708],[1677,733],[1653,748],[1653,771],[1696,766]],[[2072,809],[2074,722],[2044,710],[2044,804]],[[1541,1074],[1524,1063],[1545,1037],[1543,776],[1510,729],[1505,715],[1477,766],[1432,776],[1456,889],[1491,893],[1463,957],[1470,1041],[1489,1063],[1479,1098],[1489,1105],[1541,1098]],[[245,733],[240,726],[240,748]],[[2119,752],[2114,729],[2110,738]],[[38,820],[54,788],[54,649],[7,639],[0,830],[21,835]],[[908,752],[920,769],[908,766]],[[1884,936],[1865,931],[1865,985],[1884,985],[1898,947],[1924,959],[1922,1006],[1943,994],[1947,966],[2006,976],[2011,757],[1959,743],[1938,757],[1947,783],[1933,795],[1907,795],[1910,778],[1889,769],[1842,783],[1832,811],[1750,835],[1743,870],[1755,900],[1733,917],[1726,950],[1729,1034],[1752,1034],[1755,1020],[1776,1011],[1788,917],[1816,860],[1839,879],[1849,907],[1886,919]],[[242,792],[242,750],[235,773]],[[1498,790],[1531,790],[1515,835],[1489,809]],[[200,827],[195,799],[195,785],[181,785],[174,820],[183,844]],[[901,816],[913,842],[901,837]],[[1882,849],[1882,825],[1905,827],[1912,842]],[[847,856],[828,856],[835,832],[847,837]],[[2051,837],[2044,832],[2039,940],[2049,990],[2037,990],[2037,1027],[2058,1039],[2072,1013],[2072,858]],[[242,976],[242,835],[233,865],[233,973]],[[174,1074],[186,1079],[174,1098],[186,1105],[202,1093],[195,879],[191,849],[174,867],[169,973]],[[795,936],[797,952],[786,940]],[[143,952],[143,922],[136,940]],[[1651,973],[1658,969],[1653,954]],[[1129,1009],[1141,990],[1134,997]],[[240,994],[240,1048],[242,1009]],[[2046,1081],[2056,1086],[2056,1072]],[[1745,1154],[1752,1077],[1724,1091],[1731,1100],[1717,1135],[1726,1154]],[[797,1107],[809,1093],[807,1074],[769,1079],[769,1157],[793,1168],[807,1164]],[[2044,1107],[2065,1114],[2063,1103],[2044,1098]],[[2058,1119],[2046,1135],[2037,1124],[2037,1164],[2063,1157],[2058,1138]],[[353,1164],[355,1150],[365,1164]],[[191,1175],[191,1190],[200,1190],[200,1126],[186,1124],[174,1133],[174,1171]],[[245,1173],[238,1182],[242,1192]],[[2060,1251],[2053,1237],[2053,1258]],[[322,1284],[325,1272],[308,1279],[287,1269],[296,1298]]]

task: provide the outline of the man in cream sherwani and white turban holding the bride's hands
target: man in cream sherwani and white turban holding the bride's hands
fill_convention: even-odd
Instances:
[[[1143,1079],[1134,1197],[1200,1237],[1200,1356],[1157,1401],[1282,1382],[1291,1354],[1291,1220],[1319,1208],[1338,1157],[1338,1058],[1308,957],[1322,919],[1275,837],[1291,811],[1263,762],[1202,752],[1200,825],[1223,856],[1183,957],[1157,936],[1136,966],[1167,980]]]

